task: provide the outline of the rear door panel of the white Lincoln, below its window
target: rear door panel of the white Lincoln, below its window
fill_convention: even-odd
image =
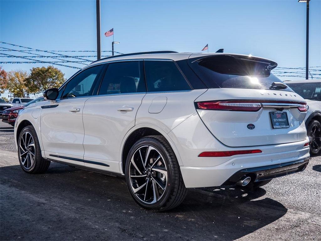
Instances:
[[[135,125],[135,116],[144,95],[96,96],[86,101],[83,110],[84,159],[105,163],[109,167],[90,163],[85,163],[85,166],[119,172],[119,146]]]

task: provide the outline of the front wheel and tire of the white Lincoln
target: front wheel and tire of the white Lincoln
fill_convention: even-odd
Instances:
[[[32,125],[24,127],[19,135],[18,158],[22,170],[27,173],[37,174],[48,170],[50,161],[41,156],[37,133]]]

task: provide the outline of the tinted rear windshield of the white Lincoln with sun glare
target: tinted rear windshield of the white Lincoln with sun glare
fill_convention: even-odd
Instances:
[[[276,63],[256,57],[214,55],[190,59],[189,65],[208,88],[278,89],[292,91],[290,87],[275,87],[281,82],[270,70]]]

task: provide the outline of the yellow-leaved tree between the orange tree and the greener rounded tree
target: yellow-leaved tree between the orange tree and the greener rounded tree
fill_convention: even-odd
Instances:
[[[12,70],[8,72],[7,89],[16,97],[25,97],[29,93],[29,88],[26,86],[28,74],[23,70]]]

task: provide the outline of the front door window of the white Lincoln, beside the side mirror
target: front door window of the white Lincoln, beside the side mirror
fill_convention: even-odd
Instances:
[[[80,72],[67,83],[62,98],[91,96],[102,68],[97,65]]]

